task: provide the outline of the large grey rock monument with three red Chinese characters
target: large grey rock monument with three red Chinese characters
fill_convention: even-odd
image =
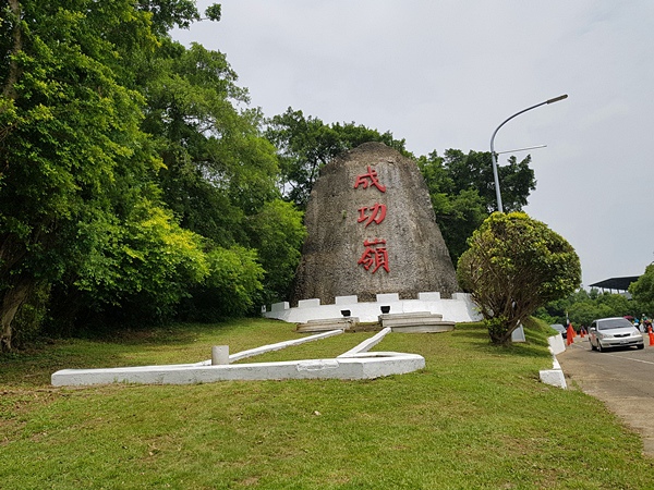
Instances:
[[[308,199],[308,236],[291,304],[378,293],[457,291],[455,268],[416,164],[366,143],[325,166]]]

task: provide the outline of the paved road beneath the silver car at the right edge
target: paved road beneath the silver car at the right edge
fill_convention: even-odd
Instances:
[[[584,393],[606,403],[628,426],[640,432],[644,452],[654,456],[654,346],[616,350],[605,353],[591,351],[586,339],[577,338],[574,344],[556,356],[566,381]]]

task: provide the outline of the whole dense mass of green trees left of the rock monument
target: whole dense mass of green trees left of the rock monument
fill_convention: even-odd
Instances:
[[[1,347],[32,296],[80,323],[191,314],[206,291],[216,315],[282,294],[257,226],[288,268],[301,215],[274,205],[275,150],[225,56],[168,35],[201,19],[195,2],[0,5]]]

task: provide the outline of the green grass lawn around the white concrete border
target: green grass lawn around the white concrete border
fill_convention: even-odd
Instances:
[[[334,357],[346,333],[246,362]],[[52,388],[62,368],[194,363],[298,338],[269,320],[56,342],[0,357],[2,489],[646,489],[654,460],[602,403],[538,381],[548,329],[390,334],[424,370],[377,380]]]

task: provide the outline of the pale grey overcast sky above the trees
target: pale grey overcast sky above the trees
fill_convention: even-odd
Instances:
[[[219,23],[174,37],[226,53],[252,106],[390,131],[416,156],[488,151],[511,114],[568,94],[495,138],[547,145],[529,151],[525,211],[574,246],[584,286],[654,260],[652,0],[220,3]]]

